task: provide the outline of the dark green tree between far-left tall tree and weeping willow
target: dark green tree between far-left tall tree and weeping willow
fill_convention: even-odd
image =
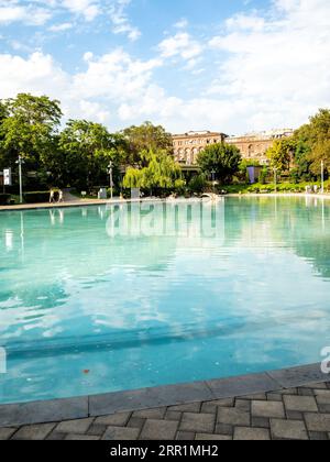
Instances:
[[[58,148],[57,177],[62,184],[89,190],[100,186],[100,182],[106,182],[110,161],[114,164],[114,176],[119,175],[121,139],[99,123],[69,120],[59,135]]]

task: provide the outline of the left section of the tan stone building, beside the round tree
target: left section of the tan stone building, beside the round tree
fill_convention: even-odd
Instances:
[[[173,135],[175,160],[182,165],[195,165],[201,151],[210,144],[223,143],[226,136],[224,133],[208,131]]]

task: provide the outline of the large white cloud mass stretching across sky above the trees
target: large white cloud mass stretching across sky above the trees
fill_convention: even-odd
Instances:
[[[328,0],[274,0],[266,12],[229,18],[223,33],[212,38],[177,31],[158,45],[158,58],[138,59],[121,48],[102,56],[87,52],[82,70],[75,74],[42,53],[25,59],[2,54],[0,98],[47,94],[63,101],[67,117],[95,119],[111,129],[146,119],[173,132],[298,127],[319,107],[330,106],[329,21]],[[157,84],[155,70],[178,61],[194,82],[201,57],[209,63],[204,90],[188,98],[168,95]]]

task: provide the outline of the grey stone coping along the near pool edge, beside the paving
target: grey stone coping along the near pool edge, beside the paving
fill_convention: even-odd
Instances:
[[[198,402],[270,393],[330,382],[321,364],[309,364],[239,377],[160,386],[131,392],[0,405],[0,427],[46,424],[108,416]]]

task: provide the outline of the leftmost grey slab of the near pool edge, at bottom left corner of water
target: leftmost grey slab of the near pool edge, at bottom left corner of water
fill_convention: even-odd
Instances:
[[[88,398],[55,399],[0,406],[0,427],[88,417]]]

